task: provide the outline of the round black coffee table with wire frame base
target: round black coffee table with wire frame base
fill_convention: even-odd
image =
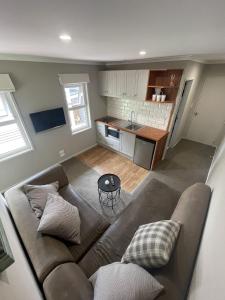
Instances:
[[[104,174],[98,180],[98,195],[100,204],[111,207],[120,200],[120,179],[114,174]]]

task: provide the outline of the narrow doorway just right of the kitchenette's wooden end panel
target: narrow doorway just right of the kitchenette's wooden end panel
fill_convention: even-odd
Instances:
[[[187,99],[191,90],[191,86],[192,86],[193,80],[186,80],[185,84],[184,84],[184,88],[183,88],[183,92],[181,95],[181,101],[180,101],[180,105],[176,114],[176,118],[173,124],[173,129],[172,129],[172,133],[170,136],[170,141],[169,141],[169,147],[174,147],[178,140],[178,131],[180,129],[180,125],[181,125],[181,120],[182,120],[182,116],[183,116],[183,112],[184,112],[184,108],[186,106],[187,103]]]

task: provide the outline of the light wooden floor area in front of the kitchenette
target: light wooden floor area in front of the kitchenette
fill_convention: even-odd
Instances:
[[[122,189],[132,192],[148,175],[148,171],[135,165],[128,158],[96,146],[78,156],[78,158],[99,174],[113,173],[121,179]]]

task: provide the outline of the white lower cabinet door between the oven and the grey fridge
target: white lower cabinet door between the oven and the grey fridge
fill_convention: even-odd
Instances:
[[[133,158],[135,138],[136,138],[135,134],[121,130],[120,131],[120,152]]]

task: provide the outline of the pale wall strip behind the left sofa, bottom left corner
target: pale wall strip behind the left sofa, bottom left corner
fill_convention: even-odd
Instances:
[[[1,195],[0,218],[15,259],[15,262],[8,269],[0,273],[0,299],[42,300],[42,295],[27,263]]]

